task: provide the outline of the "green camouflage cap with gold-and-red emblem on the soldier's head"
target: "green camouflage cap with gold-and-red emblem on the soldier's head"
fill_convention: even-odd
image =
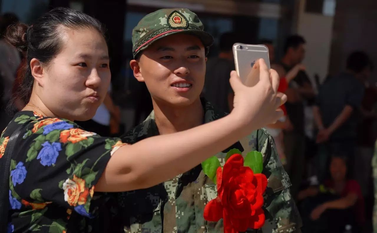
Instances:
[[[176,33],[195,35],[207,48],[212,45],[213,37],[203,29],[198,15],[188,9],[160,9],[146,15],[132,30],[133,57],[153,41]]]

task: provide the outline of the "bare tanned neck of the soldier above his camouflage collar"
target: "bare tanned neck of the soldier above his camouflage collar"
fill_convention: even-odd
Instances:
[[[203,123],[204,110],[200,98],[189,106],[179,107],[161,101],[152,102],[160,135],[191,129]]]

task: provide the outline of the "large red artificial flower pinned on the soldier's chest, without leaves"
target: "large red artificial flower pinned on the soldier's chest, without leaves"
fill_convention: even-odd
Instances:
[[[244,167],[242,155],[234,154],[216,173],[218,196],[205,205],[204,219],[217,222],[224,219],[224,233],[237,233],[264,225],[263,193],[267,178]]]

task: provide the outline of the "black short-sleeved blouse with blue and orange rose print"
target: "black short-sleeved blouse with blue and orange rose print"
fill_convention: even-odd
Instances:
[[[98,232],[90,224],[105,198],[94,186],[125,143],[65,119],[21,111],[1,135],[0,161],[20,124],[10,167],[8,232]]]

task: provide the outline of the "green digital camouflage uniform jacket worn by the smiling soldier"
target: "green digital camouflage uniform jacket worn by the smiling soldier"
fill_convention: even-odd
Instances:
[[[202,100],[202,103],[205,106],[206,123],[226,115],[213,109],[205,100]],[[126,143],[136,143],[158,134],[152,112],[122,140]],[[224,152],[217,153],[216,156],[222,166],[225,163],[226,153],[233,148],[243,151],[244,156],[252,150],[262,152],[265,166],[263,173],[268,178],[268,188],[264,195],[265,225],[262,229],[247,232],[301,232],[301,218],[290,195],[291,182],[268,132],[264,129],[254,131]],[[177,150],[179,153],[179,145],[172,145],[172,150]],[[204,175],[201,165],[152,188],[121,193],[118,196],[118,203],[121,208],[123,207],[124,232],[223,232],[222,219],[219,222],[207,222],[203,218],[205,204],[216,196],[216,185]]]

